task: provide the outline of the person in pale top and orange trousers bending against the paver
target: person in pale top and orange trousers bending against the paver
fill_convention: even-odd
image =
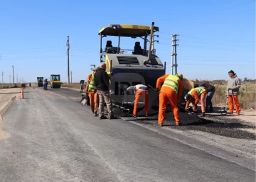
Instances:
[[[143,84],[137,84],[135,86],[129,86],[126,91],[134,91],[135,94],[135,101],[134,101],[134,110],[133,115],[137,116],[137,107],[139,104],[139,98],[141,96],[144,97],[144,104],[145,104],[145,114],[146,117],[149,115],[149,87],[143,85]]]

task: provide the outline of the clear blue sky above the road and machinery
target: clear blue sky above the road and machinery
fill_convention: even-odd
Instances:
[[[179,34],[178,72],[188,79],[228,79],[230,69],[241,79],[255,79],[255,0],[110,2],[1,1],[4,82],[9,82],[12,65],[15,80],[16,74],[24,81],[60,74],[62,81],[68,81],[68,35],[73,82],[86,79],[90,64],[100,63],[100,28],[109,23],[150,25],[152,21],[159,26],[159,43],[154,47],[168,65],[167,74],[171,73],[171,34]],[[134,40],[123,40],[120,47],[133,49]]]

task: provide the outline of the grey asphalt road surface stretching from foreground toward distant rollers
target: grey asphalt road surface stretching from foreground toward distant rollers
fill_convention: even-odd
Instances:
[[[0,181],[255,181],[255,171],[170,137],[99,120],[60,92],[26,89],[7,111]]]

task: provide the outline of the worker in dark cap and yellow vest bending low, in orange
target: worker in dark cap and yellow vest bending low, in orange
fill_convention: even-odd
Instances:
[[[189,108],[189,104],[193,104],[193,112],[197,112],[197,106],[200,101],[201,103],[201,117],[206,116],[206,97],[207,97],[207,90],[203,86],[196,87],[194,89],[191,89],[191,91],[188,91],[188,94],[185,96],[186,100],[186,107],[187,110]]]

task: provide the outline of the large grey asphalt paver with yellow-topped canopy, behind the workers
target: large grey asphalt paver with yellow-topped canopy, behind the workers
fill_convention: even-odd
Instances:
[[[121,104],[124,98],[124,89],[135,84],[151,85],[156,87],[156,80],[166,72],[166,62],[156,56],[154,49],[154,33],[159,27],[146,25],[109,24],[99,31],[100,35],[100,62],[105,62],[106,72],[110,76],[110,86],[114,91],[112,100],[115,104]],[[105,48],[102,47],[102,39],[105,37],[118,39],[117,45],[107,38]],[[122,49],[121,38],[141,38],[141,42],[135,40],[132,49]],[[149,49],[147,43],[149,42]],[[129,53],[126,53],[129,52]],[[133,93],[132,93],[133,94]],[[134,96],[127,98],[127,104],[132,104]]]

